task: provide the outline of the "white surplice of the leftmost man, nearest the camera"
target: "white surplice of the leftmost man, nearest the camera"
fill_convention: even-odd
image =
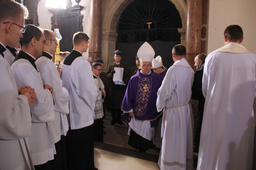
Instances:
[[[29,151],[31,115],[26,96],[18,88],[9,64],[0,55],[0,169],[34,169]]]

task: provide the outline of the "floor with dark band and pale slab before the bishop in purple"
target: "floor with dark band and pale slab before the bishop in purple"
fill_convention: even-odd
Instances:
[[[126,125],[105,124],[104,143],[94,143],[94,163],[99,170],[159,170],[157,165],[159,149],[152,148],[146,153],[128,145]],[[195,170],[196,168],[194,168]]]

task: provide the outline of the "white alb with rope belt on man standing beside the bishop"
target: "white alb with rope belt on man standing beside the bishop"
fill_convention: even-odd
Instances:
[[[183,58],[168,69],[157,92],[157,110],[165,108],[158,160],[161,170],[193,169],[193,114],[189,103],[193,80],[194,71]]]

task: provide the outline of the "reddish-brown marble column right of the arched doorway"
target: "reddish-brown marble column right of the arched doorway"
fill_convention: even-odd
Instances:
[[[193,70],[194,58],[201,53],[201,25],[202,0],[187,0],[186,60]]]

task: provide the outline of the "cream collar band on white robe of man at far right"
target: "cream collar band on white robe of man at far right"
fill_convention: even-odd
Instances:
[[[224,53],[250,53],[244,46],[238,43],[229,43],[217,50],[217,52],[224,52]]]

